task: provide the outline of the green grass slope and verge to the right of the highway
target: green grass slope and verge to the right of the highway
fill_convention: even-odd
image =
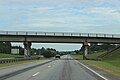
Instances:
[[[95,58],[99,56],[101,53],[96,54],[88,54],[87,57],[89,58]],[[75,59],[82,58],[82,55],[72,55]],[[80,62],[83,62],[85,64],[91,65],[93,67],[103,69],[104,71],[110,72],[113,75],[120,77],[120,49],[112,52],[111,55],[107,56],[102,61],[93,61],[93,60],[80,60]]]

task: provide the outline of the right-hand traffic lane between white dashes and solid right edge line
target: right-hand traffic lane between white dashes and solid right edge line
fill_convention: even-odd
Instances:
[[[71,58],[69,55],[66,57]],[[35,80],[101,80],[101,78],[96,77],[94,74],[89,74],[89,71],[84,70],[75,60],[62,60],[61,65],[59,64],[55,68],[47,72],[48,75],[46,74],[45,77],[38,76]]]

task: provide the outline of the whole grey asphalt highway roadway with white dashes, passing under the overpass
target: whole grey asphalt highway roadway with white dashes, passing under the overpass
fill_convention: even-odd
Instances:
[[[0,80],[104,80],[85,69],[76,60],[69,59],[71,59],[71,56],[64,55],[61,59],[17,74],[13,73],[12,76]]]

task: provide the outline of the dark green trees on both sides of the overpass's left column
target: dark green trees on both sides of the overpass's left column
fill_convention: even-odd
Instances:
[[[24,48],[21,46],[12,46],[10,42],[0,42],[0,53],[11,54],[11,49],[19,49],[19,55],[24,55]],[[32,48],[31,55],[43,55],[46,58],[54,57],[58,51],[53,48],[41,49]]]

